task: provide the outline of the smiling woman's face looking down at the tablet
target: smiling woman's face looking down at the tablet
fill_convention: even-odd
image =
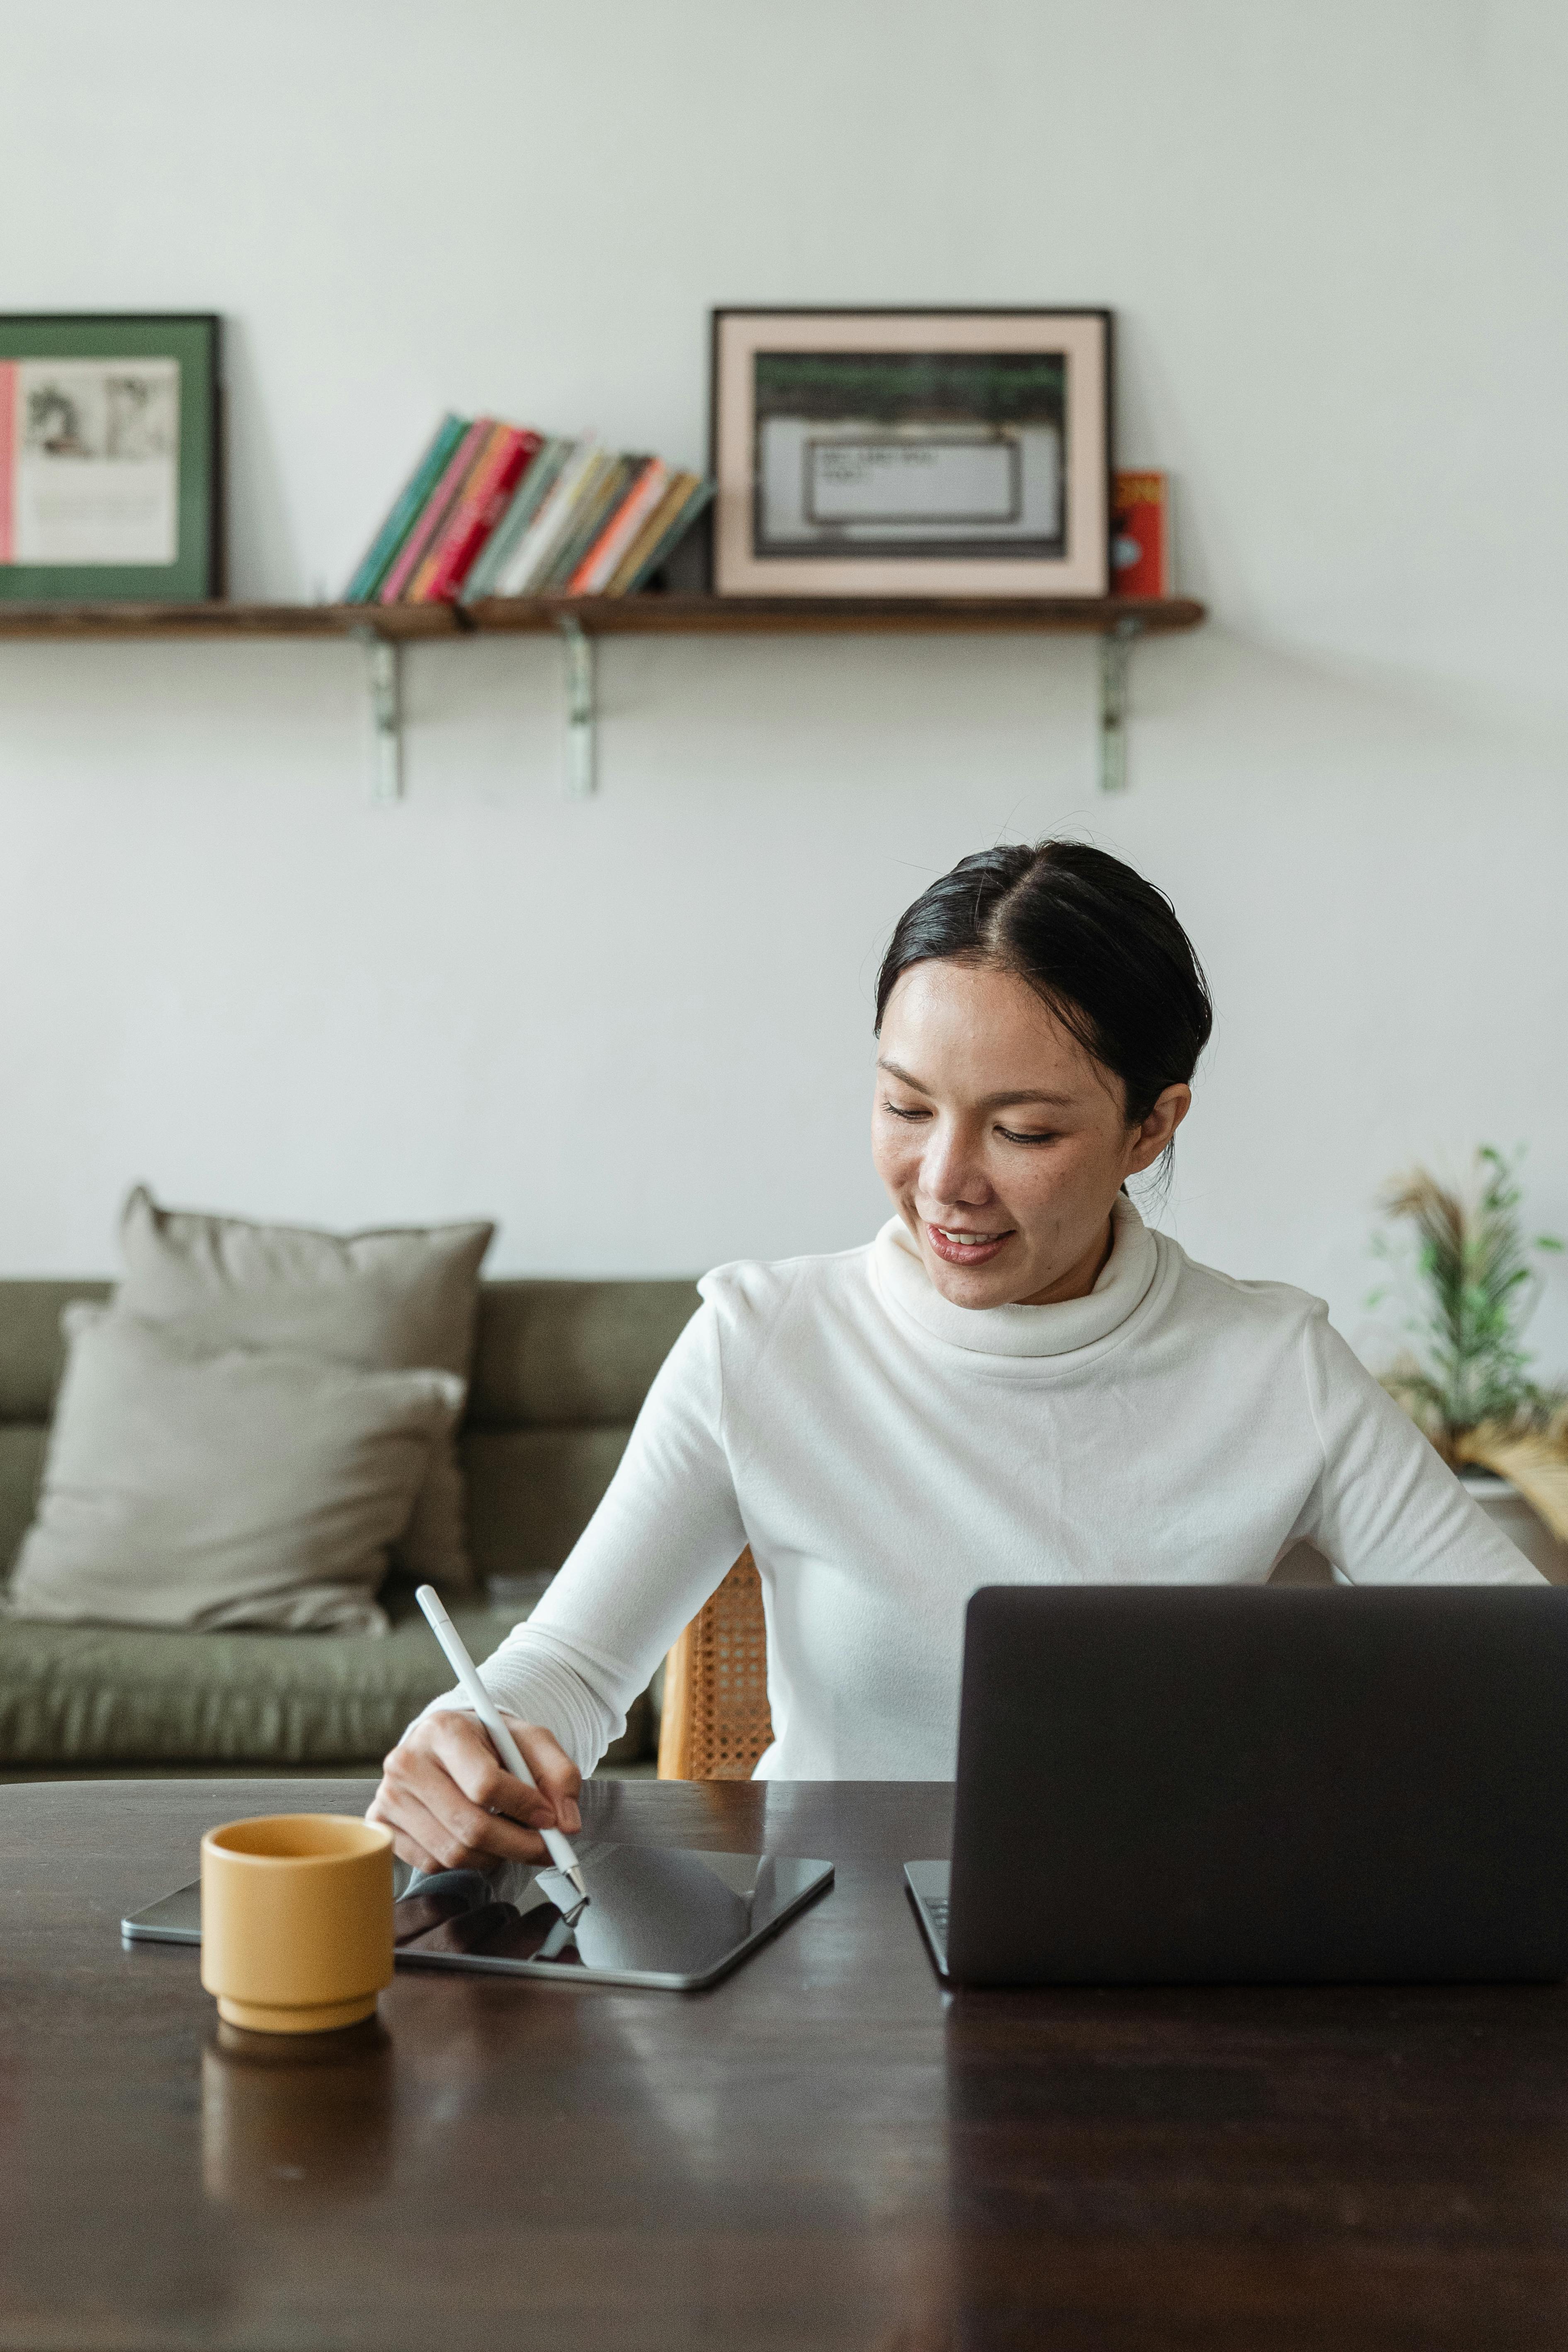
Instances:
[[[882,1021],[872,1160],[931,1282],[959,1308],[1086,1298],[1126,1176],[1187,1117],[1166,1087],[1128,1127],[1103,1070],[997,964],[910,964]]]

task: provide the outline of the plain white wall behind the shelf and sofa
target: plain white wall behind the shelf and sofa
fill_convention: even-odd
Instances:
[[[0,1265],[129,1178],[701,1268],[877,1216],[870,983],[959,854],[1175,898],[1171,1221],[1366,1341],[1371,1200],[1530,1138],[1568,1228],[1556,0],[78,0],[7,12],[2,299],[230,320],[233,590],[336,590],[451,407],[696,461],[712,301],[1105,301],[1194,637],[435,647],[367,807],[339,644],[0,647]],[[1568,1364],[1568,1279],[1537,1322]]]

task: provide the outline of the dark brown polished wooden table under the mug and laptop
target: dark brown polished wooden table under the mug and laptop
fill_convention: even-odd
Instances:
[[[216,2046],[115,1922],[360,1783],[0,1790],[0,2347],[1298,2352],[1568,2340],[1568,1994],[945,1999],[945,1788],[588,1790],[590,1835],[825,1853],[705,1994],[404,1973],[386,2037]]]

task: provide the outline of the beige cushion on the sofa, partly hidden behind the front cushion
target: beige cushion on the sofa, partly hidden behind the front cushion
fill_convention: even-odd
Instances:
[[[240,1216],[160,1209],[139,1185],[120,1218],[115,1303],[174,1322],[205,1348],[296,1348],[367,1371],[435,1367],[468,1378],[480,1263],[494,1225],[310,1232]],[[430,1468],[397,1562],[449,1590],[473,1583],[463,1477],[451,1439]]]

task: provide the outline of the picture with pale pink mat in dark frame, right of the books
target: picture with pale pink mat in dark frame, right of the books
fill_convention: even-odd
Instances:
[[[719,595],[1105,595],[1110,310],[715,310]]]

